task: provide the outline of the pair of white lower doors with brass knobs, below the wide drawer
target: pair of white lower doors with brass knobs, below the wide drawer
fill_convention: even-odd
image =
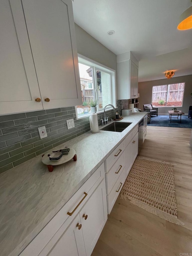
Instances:
[[[67,227],[63,224],[39,256],[89,256],[107,221],[105,180]]]

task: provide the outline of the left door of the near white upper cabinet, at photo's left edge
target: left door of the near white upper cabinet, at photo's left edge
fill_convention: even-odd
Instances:
[[[0,1],[0,114],[42,109],[22,4]]]

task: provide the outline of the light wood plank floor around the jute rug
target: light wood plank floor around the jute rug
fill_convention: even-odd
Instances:
[[[185,225],[172,224],[118,197],[92,256],[192,255],[190,133],[189,128],[148,126],[139,154],[177,164],[174,173],[178,218]]]

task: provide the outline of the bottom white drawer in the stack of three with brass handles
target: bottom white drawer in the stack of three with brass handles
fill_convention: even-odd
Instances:
[[[125,170],[126,168],[124,168],[119,176],[119,178],[117,179],[115,185],[113,186],[110,194],[107,196],[107,203],[108,203],[108,214],[110,214],[113,205],[116,202],[116,199],[123,187],[123,184],[125,182]]]

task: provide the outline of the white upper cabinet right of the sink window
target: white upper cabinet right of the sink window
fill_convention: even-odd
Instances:
[[[131,52],[117,56],[118,99],[138,97],[138,61]]]

